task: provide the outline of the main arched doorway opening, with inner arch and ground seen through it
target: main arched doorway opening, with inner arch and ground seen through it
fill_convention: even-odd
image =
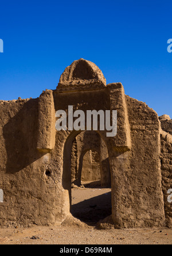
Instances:
[[[93,138],[96,147],[93,147]],[[108,186],[101,186],[102,177],[110,175],[108,155],[104,153],[106,146],[95,131],[81,132],[69,141],[72,142],[70,159],[68,155],[68,163],[71,165],[69,167],[68,164],[68,179],[70,177],[72,185],[69,189],[71,213],[77,219],[95,225],[112,213],[111,182]],[[108,175],[103,175],[103,172]]]

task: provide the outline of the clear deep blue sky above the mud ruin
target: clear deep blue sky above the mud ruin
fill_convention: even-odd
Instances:
[[[96,63],[107,83],[172,118],[172,1],[1,1],[0,99],[55,89],[79,58]]]

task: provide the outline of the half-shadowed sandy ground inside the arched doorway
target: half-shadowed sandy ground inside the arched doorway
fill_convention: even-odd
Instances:
[[[112,213],[111,189],[102,189],[99,183],[83,183],[85,188],[72,189],[71,213],[89,225],[96,224]]]

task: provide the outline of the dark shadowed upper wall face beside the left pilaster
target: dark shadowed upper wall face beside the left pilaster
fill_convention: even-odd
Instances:
[[[38,159],[38,100],[17,100],[1,107],[1,149],[6,172],[15,174]]]

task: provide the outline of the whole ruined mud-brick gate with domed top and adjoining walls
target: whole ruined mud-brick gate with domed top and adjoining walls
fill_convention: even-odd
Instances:
[[[57,110],[117,110],[118,133],[57,131]],[[38,99],[0,101],[0,225],[56,225],[70,215],[71,183],[80,185],[83,157],[95,150],[101,185],[112,189],[116,228],[172,227],[172,122],[146,103],[106,84],[101,70],[80,59],[57,89]],[[162,128],[161,128],[162,123]]]

